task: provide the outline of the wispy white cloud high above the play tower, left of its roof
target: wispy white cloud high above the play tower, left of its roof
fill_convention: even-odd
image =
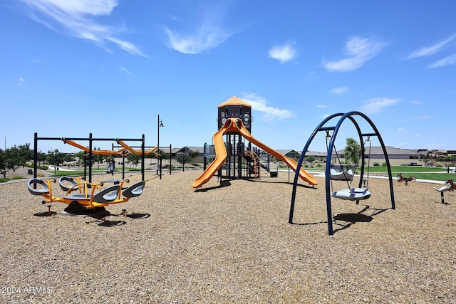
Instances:
[[[224,43],[232,33],[222,27],[224,19],[224,8],[222,5],[207,8],[201,12],[202,16],[198,19],[199,23],[190,33],[181,33],[165,27],[165,33],[169,48],[185,54],[197,54],[210,48],[216,48]],[[175,21],[179,21],[175,17]],[[185,25],[185,28],[192,26]]]

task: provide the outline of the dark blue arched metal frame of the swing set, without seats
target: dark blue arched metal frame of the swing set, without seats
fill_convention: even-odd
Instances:
[[[361,132],[361,128],[358,125],[358,122],[355,119],[355,116],[360,116],[366,122],[368,122],[369,125],[371,125],[372,130],[374,131],[373,133],[363,133]],[[336,126],[333,127],[326,127],[326,123],[330,120],[332,120],[335,117],[341,117]],[[306,155],[307,150],[309,149],[312,140],[314,140],[314,137],[317,135],[318,132],[324,131],[324,132],[329,132],[333,131],[333,134],[331,135],[331,141],[329,142],[328,145],[328,155],[326,157],[326,169],[325,169],[325,186],[326,186],[326,214],[328,216],[328,234],[331,236],[333,234],[333,214],[332,214],[332,209],[331,209],[331,159],[332,159],[332,152],[333,152],[333,147],[334,147],[334,142],[336,140],[336,136],[338,134],[338,130],[340,129],[342,122],[346,119],[351,120],[353,122],[353,125],[356,127],[356,131],[358,132],[359,140],[361,143],[361,177],[359,179],[359,188],[362,187],[363,183],[363,177],[364,177],[364,159],[366,158],[366,153],[364,149],[364,137],[377,137],[378,141],[380,142],[380,145],[383,150],[383,156],[385,157],[385,162],[386,162],[386,167],[388,169],[388,179],[389,179],[389,185],[390,185],[390,196],[391,196],[391,209],[395,209],[395,201],[394,201],[394,191],[393,191],[393,177],[391,175],[391,167],[390,167],[390,161],[388,159],[388,154],[386,152],[386,147],[385,144],[383,143],[383,139],[380,136],[380,132],[378,132],[377,127],[373,124],[372,120],[369,119],[366,115],[364,115],[361,112],[357,111],[352,111],[352,112],[347,112],[347,113],[336,113],[333,115],[330,115],[326,117],[319,125],[316,127],[314,132],[312,132],[311,137],[309,137],[309,140],[307,140],[306,145],[304,146],[304,149],[301,152],[301,157],[299,157],[298,161],[298,168],[301,167],[302,162],[304,161],[304,157]],[[371,157],[371,155],[369,155]],[[294,204],[296,200],[296,186],[298,184],[298,174],[294,175],[294,182],[293,182],[293,190],[291,192],[291,206],[290,206],[290,215],[289,215],[289,224],[294,224],[293,223],[293,215],[294,215]],[[358,204],[359,201],[356,201],[356,204]]]

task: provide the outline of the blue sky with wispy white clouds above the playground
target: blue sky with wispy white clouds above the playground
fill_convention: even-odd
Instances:
[[[0,139],[145,134],[155,146],[160,115],[160,145],[202,146],[236,95],[252,104],[252,135],[274,149],[302,150],[324,117],[358,110],[385,145],[456,150],[455,11],[455,1],[1,1]],[[323,136],[311,150],[326,150]]]

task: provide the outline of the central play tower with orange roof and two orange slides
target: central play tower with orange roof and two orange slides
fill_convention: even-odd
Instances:
[[[304,171],[300,166],[297,166],[296,162],[286,157],[276,150],[264,145],[259,140],[255,139],[249,130],[252,130],[252,107],[245,103],[240,98],[233,97],[219,105],[219,118],[218,125],[219,130],[212,137],[214,143],[215,157],[211,164],[204,169],[204,172],[195,179],[193,182],[193,188],[200,188],[203,184],[209,182],[214,174],[219,173],[222,175],[222,167],[226,169],[226,177],[242,177],[242,161],[247,162],[247,175],[254,174],[254,178],[259,179],[261,167],[269,171],[269,167],[265,167],[261,164],[260,152],[252,148],[252,144],[261,148],[268,154],[281,160],[288,167],[298,172],[299,177],[308,182],[311,185],[316,185],[316,179],[309,173]],[[224,142],[224,136],[227,137],[226,144]],[[241,141],[241,137],[249,141],[247,149],[245,149],[244,142]],[[206,151],[204,151],[205,153]],[[205,153],[206,154],[206,153]],[[210,156],[213,156],[213,152],[210,152]],[[300,169],[297,169],[300,168]]]

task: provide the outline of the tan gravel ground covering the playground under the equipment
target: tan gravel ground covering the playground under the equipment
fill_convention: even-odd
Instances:
[[[0,184],[0,303],[456,303],[454,193],[441,204],[435,185],[395,182],[391,210],[388,181],[372,178],[371,199],[333,199],[328,236],[321,177],[298,188],[288,224],[286,172],[195,192],[199,174],[147,172],[105,222],[61,203],[43,216],[26,181]]]

